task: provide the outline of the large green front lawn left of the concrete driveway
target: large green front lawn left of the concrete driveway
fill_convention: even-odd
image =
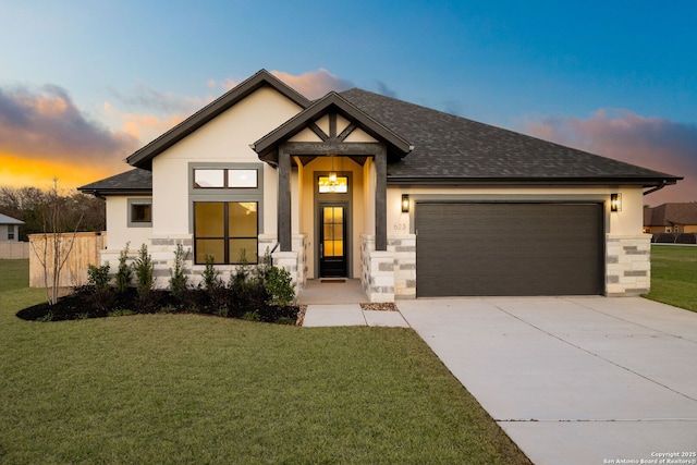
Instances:
[[[528,463],[412,330],[27,322],[0,260],[0,463]]]

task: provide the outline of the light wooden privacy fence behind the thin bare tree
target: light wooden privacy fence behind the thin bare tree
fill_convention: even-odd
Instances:
[[[29,235],[29,286],[44,287],[45,276],[53,283],[53,234]],[[87,267],[99,266],[99,250],[107,246],[107,233],[81,232],[59,234],[62,256],[68,255],[59,286],[72,287],[87,283]],[[71,249],[72,245],[72,249]],[[42,262],[47,262],[45,268]]]

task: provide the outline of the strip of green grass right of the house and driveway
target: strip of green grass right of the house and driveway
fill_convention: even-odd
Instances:
[[[697,247],[651,246],[651,292],[647,298],[697,311]]]

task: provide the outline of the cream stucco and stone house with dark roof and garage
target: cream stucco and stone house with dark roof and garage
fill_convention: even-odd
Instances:
[[[356,278],[371,301],[645,293],[644,189],[682,179],[366,90],[310,101],[264,70],[126,161],[81,187],[107,200],[112,269],[127,243],[160,285],[176,244],[195,273],[268,250],[299,289]]]

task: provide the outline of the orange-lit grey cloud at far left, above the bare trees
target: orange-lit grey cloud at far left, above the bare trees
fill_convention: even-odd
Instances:
[[[59,86],[0,87],[2,154],[30,160],[99,163],[120,160],[136,146],[135,137],[89,120]]]

